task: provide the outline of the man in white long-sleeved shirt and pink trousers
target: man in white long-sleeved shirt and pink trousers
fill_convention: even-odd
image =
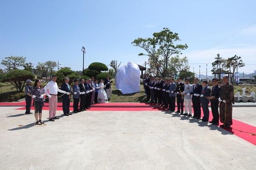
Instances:
[[[58,88],[58,85],[56,83],[57,76],[52,75],[52,81],[48,82],[48,84],[44,87],[44,93],[49,97],[49,121],[54,122],[55,119],[60,119],[56,117],[56,109],[57,109],[57,95],[58,92],[64,93],[69,95],[69,92],[62,91]],[[47,89],[49,89],[49,93],[47,92]]]

